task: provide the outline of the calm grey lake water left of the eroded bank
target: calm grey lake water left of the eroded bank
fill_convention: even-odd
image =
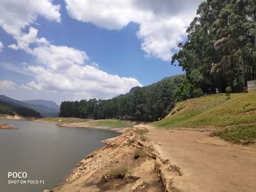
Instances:
[[[0,130],[0,191],[51,189],[70,175],[86,155],[103,146],[100,140],[119,133],[58,127],[24,120],[1,122],[18,130]],[[8,172],[27,172],[26,179],[8,179]],[[8,184],[8,180],[44,180],[44,184]]]

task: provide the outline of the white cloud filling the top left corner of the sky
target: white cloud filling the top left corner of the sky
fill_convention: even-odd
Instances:
[[[60,5],[51,0],[1,0],[0,26],[18,36],[21,30],[35,22],[38,15],[60,22]]]

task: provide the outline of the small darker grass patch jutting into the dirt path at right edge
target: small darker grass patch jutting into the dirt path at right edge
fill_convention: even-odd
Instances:
[[[221,131],[215,131],[211,135],[219,136],[220,138],[232,143],[255,143],[256,125],[233,126],[230,128],[225,128],[224,130]]]

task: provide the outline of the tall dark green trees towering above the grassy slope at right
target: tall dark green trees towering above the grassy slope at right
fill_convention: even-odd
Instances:
[[[256,1],[208,0],[187,29],[187,41],[172,58],[195,88],[226,86],[242,91],[256,79]],[[234,83],[237,82],[237,83]]]

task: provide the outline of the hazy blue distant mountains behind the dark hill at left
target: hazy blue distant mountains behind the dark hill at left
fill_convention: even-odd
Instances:
[[[33,109],[39,112],[42,117],[56,117],[58,116],[58,113],[59,113],[59,109],[57,109],[56,107],[57,104],[54,101],[40,100],[41,102],[37,102],[40,104],[32,104],[30,103],[31,101],[19,101],[19,100],[15,100],[10,97],[7,97],[5,95],[0,95],[0,101],[6,102],[18,107]],[[32,102],[36,103],[36,101],[32,101]],[[52,104],[52,106],[49,106],[50,104]]]

